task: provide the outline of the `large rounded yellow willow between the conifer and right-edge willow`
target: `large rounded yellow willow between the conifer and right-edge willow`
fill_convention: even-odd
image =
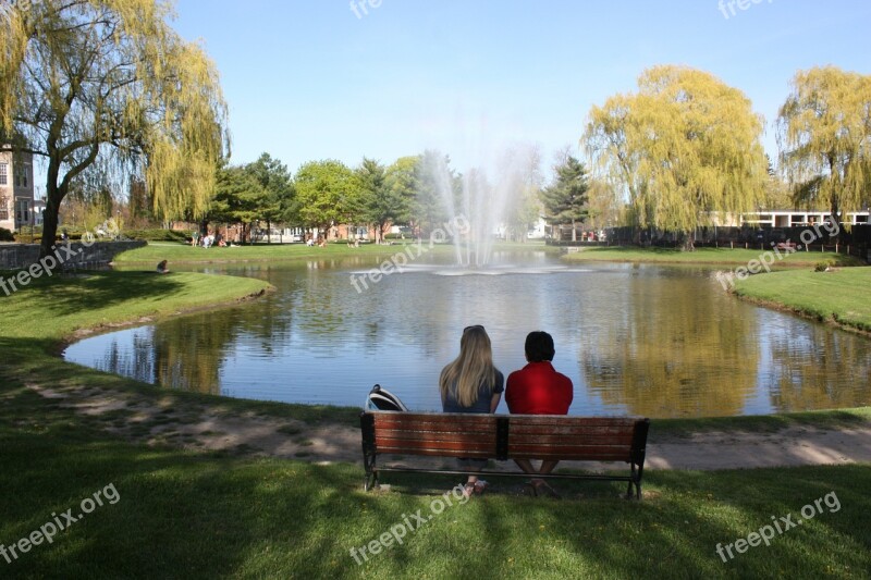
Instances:
[[[638,92],[593,107],[582,143],[635,223],[684,234],[756,209],[765,178],[762,119],[739,90],[683,66],[655,66]]]

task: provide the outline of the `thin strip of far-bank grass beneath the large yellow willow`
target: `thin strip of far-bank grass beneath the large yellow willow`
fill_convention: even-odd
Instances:
[[[761,249],[698,248],[695,251],[683,251],[672,248],[585,248],[581,251],[566,254],[563,259],[571,262],[605,261],[605,262],[653,262],[653,263],[694,263],[706,266],[747,266],[750,260],[759,260]],[[838,266],[860,266],[857,258],[832,252],[798,251],[773,258],[773,268],[813,266],[823,259],[833,260]]]

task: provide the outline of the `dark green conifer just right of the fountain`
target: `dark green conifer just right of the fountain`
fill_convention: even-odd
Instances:
[[[575,226],[588,215],[587,170],[571,155],[565,155],[553,170],[554,183],[541,190],[544,219],[552,225],[572,224],[572,242],[576,242]]]

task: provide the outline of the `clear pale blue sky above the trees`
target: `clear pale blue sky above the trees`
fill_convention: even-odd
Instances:
[[[871,74],[869,0],[354,5],[177,0],[175,29],[199,39],[220,70],[234,163],[263,151],[291,171],[327,158],[392,163],[429,147],[464,171],[523,143],[550,165],[560,148],[577,148],[591,106],[635,90],[657,64],[701,69],[743,90],[776,158],[773,121],[797,70]]]

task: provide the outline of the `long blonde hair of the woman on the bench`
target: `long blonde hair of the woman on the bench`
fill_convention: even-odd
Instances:
[[[478,390],[487,384],[492,390],[496,382],[490,336],[483,326],[469,326],[459,340],[459,356],[449,363],[439,377],[442,402],[451,393],[463,407],[478,400]]]

